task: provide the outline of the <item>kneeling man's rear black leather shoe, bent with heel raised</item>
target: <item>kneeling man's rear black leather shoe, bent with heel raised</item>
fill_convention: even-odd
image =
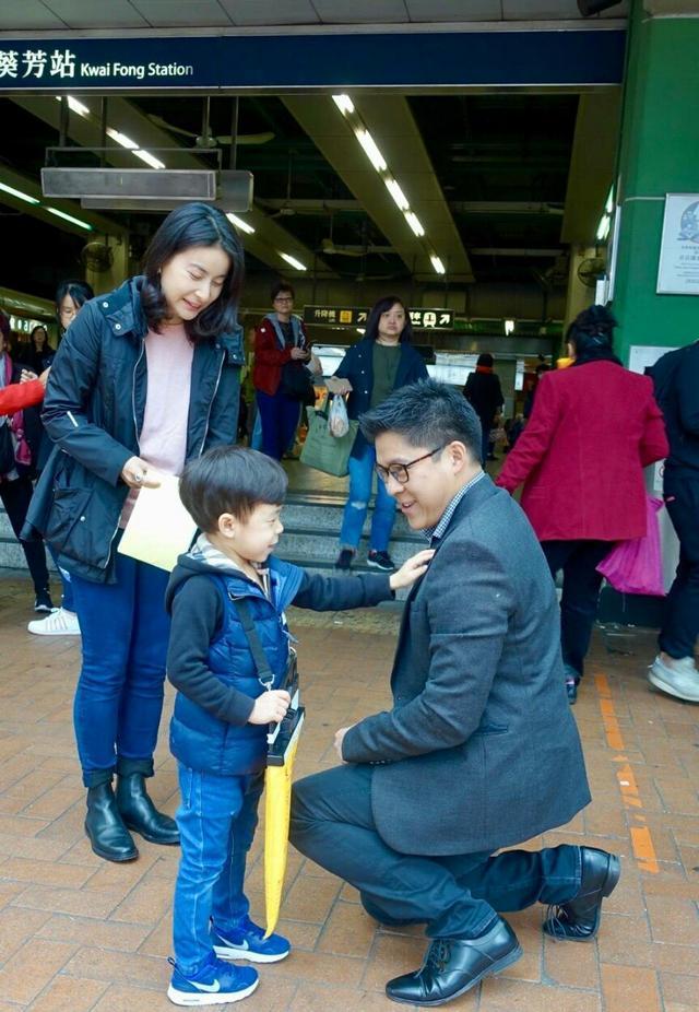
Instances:
[[[554,908],[544,922],[552,938],[571,942],[589,942],[597,933],[602,901],[609,896],[619,881],[621,866],[614,854],[595,847],[581,847],[582,878],[578,894]]]

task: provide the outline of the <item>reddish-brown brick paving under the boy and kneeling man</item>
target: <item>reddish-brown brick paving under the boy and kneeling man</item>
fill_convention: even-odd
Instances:
[[[139,840],[140,859],[119,867],[87,847],[71,732],[78,646],[29,636],[29,602],[28,584],[0,574],[0,1012],[158,1012],[171,1008],[165,957],[177,850]],[[292,621],[308,705],[301,775],[333,764],[335,728],[384,706],[396,615],[294,612]],[[516,915],[524,957],[450,1008],[699,1009],[699,707],[649,692],[644,666],[652,652],[649,633],[596,634],[574,711],[594,802],[544,840],[588,842],[621,855],[623,879],[605,906],[599,940],[549,943],[541,933],[542,908]],[[167,736],[162,739],[165,744]],[[152,784],[174,812],[166,746]],[[259,847],[249,892],[260,915]],[[262,968],[245,1009],[396,1008],[382,987],[418,964],[417,929],[377,929],[354,890],[294,852],[283,915],[294,953]]]

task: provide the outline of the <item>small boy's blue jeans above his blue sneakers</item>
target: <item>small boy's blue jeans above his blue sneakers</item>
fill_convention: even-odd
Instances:
[[[258,824],[263,776],[222,777],[178,763],[181,847],[173,939],[178,969],[196,974],[213,952],[212,920],[226,934],[247,915],[245,864]]]

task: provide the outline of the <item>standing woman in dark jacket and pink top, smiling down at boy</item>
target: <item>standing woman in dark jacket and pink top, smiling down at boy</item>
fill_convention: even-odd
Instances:
[[[43,419],[56,448],[29,519],[73,583],[85,829],[110,861],[138,856],[129,829],[178,842],[144,784],[163,706],[168,574],[117,546],[140,489],[235,438],[241,275],[242,249],[224,214],[179,208],[153,237],[144,275],[87,303],[71,323],[48,381]]]

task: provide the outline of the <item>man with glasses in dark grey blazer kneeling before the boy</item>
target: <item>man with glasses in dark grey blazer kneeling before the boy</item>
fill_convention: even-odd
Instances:
[[[590,791],[554,584],[524,514],[481,467],[473,409],[426,380],[362,428],[435,555],[405,604],[392,708],[337,731],[343,765],[295,785],[292,840],[380,922],[426,922],[422,967],[386,990],[438,1005],[520,957],[501,911],[550,904],[544,931],[592,939],[619,861],[591,847],[496,854],[567,823]]]

